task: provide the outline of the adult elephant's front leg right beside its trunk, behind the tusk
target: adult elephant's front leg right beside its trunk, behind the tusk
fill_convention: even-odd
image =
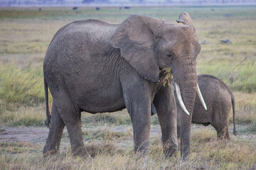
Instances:
[[[168,85],[162,86],[154,97],[157,116],[161,126],[164,154],[171,157],[178,150],[176,126],[176,101]]]

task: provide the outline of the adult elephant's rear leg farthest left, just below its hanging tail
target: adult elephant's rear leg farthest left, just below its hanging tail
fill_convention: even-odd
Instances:
[[[51,124],[50,130],[48,134],[48,138],[46,140],[46,145],[43,148],[43,154],[55,154],[60,149],[60,140],[63,135],[64,123],[62,118],[60,117],[60,113],[58,113],[58,109],[55,106],[53,101],[52,111],[51,111]]]

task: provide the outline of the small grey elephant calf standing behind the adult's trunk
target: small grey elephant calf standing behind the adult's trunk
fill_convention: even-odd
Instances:
[[[204,101],[206,102],[207,111],[196,96],[193,109],[192,123],[212,125],[217,131],[218,139],[230,139],[228,135],[228,122],[231,105],[233,106],[233,123],[234,135],[235,130],[235,98],[228,86],[211,75],[202,74],[198,76],[198,86],[201,90]],[[178,136],[181,129],[181,114],[183,110],[177,102],[177,132]]]

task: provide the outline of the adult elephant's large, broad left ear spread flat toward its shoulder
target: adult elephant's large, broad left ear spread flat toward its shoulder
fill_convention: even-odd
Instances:
[[[155,53],[155,33],[164,21],[149,16],[129,16],[117,26],[111,38],[113,47],[139,74],[150,81],[159,80],[159,61]]]

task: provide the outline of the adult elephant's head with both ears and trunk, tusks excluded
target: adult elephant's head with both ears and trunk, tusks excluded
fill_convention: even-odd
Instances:
[[[197,91],[196,57],[201,46],[188,13],[181,13],[177,22],[183,24],[167,24],[149,16],[129,16],[116,28],[111,42],[113,47],[121,50],[121,56],[149,81],[159,81],[159,71],[172,67],[183,103],[187,112],[192,114]],[[188,144],[182,152],[188,152],[191,115],[184,113],[181,119],[187,123],[183,126],[182,143]]]

